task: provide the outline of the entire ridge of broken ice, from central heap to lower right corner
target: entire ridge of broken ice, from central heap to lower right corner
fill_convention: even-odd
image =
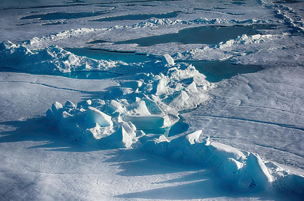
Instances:
[[[236,189],[280,188],[303,193],[303,176],[255,153],[202,138],[202,131],[169,139],[143,132],[172,126],[179,119],[179,109],[206,100],[205,90],[212,87],[191,65],[174,64],[168,55],[163,60],[145,64],[148,72],[122,81],[104,100],[81,101],[77,107],[70,101],[64,106],[55,102],[46,112],[50,123],[63,136],[84,144],[107,149],[140,146],[150,153],[210,166]]]

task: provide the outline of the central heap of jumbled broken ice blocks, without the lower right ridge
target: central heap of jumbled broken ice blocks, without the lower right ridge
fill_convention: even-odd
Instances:
[[[16,47],[10,43],[5,46]],[[77,104],[67,101],[64,106],[55,102],[46,111],[47,118],[63,136],[101,147],[130,147],[145,135],[142,130],[171,127],[179,120],[177,111],[196,107],[208,99],[205,91],[214,84],[192,65],[174,64],[169,55],[163,58],[163,62],[131,66],[134,70],[129,73],[133,73],[134,80],[121,80],[120,85],[105,91],[104,100],[83,100]],[[127,73],[130,66],[115,69]],[[138,73],[134,75],[134,71]],[[166,143],[159,140],[157,145]]]

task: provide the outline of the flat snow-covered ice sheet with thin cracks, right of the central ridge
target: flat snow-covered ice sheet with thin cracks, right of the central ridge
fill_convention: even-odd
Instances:
[[[185,119],[214,140],[303,169],[303,74],[270,67],[223,80]]]

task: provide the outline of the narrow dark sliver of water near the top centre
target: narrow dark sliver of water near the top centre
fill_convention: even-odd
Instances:
[[[132,15],[120,15],[120,16],[114,16],[114,17],[105,17],[100,19],[93,19],[90,21],[95,22],[110,22],[110,21],[118,21],[118,20],[146,20],[150,19],[152,17],[154,18],[172,18],[177,17],[177,15],[181,13],[180,11],[175,12],[168,12],[163,14],[132,14]]]

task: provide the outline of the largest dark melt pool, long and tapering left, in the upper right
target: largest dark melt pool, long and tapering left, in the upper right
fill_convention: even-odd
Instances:
[[[258,30],[274,29],[273,27],[275,25],[200,26],[182,29],[178,33],[120,41],[115,44],[135,43],[139,46],[151,46],[162,43],[217,44],[243,34],[256,35],[259,33]]]

